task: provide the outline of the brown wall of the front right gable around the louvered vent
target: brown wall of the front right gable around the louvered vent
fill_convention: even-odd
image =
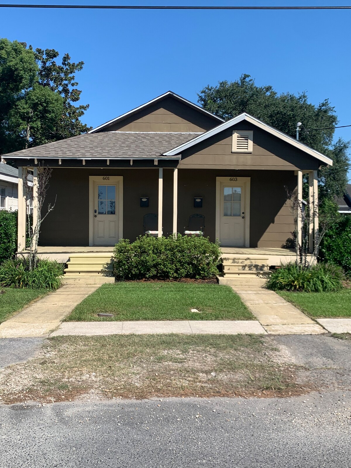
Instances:
[[[234,130],[253,130],[252,153],[232,153]],[[241,122],[182,152],[180,168],[317,170],[320,162],[285,141]]]

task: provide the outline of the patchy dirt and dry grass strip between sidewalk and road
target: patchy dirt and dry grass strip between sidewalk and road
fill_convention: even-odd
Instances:
[[[300,395],[298,366],[258,336],[55,337],[0,375],[5,403],[99,398]]]

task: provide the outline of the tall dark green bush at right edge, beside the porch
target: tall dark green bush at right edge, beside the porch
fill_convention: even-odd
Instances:
[[[351,216],[340,216],[324,234],[320,256],[322,260],[339,265],[351,276]]]

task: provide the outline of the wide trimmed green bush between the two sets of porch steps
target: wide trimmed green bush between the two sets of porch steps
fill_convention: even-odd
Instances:
[[[120,279],[212,278],[220,250],[205,237],[140,236],[121,239],[114,249],[114,273]]]

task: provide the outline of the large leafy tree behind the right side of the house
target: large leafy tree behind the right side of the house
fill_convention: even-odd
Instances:
[[[198,102],[224,119],[248,112],[292,137],[296,135],[297,122],[302,122],[300,140],[333,159],[331,168],[319,171],[322,199],[344,193],[350,168],[349,143],[342,139],[333,143],[337,117],[328,99],[316,106],[308,102],[305,92],[297,96],[278,95],[272,86],[256,86],[249,75],[243,74],[236,81],[219,81],[218,86],[206,86],[198,94]]]

